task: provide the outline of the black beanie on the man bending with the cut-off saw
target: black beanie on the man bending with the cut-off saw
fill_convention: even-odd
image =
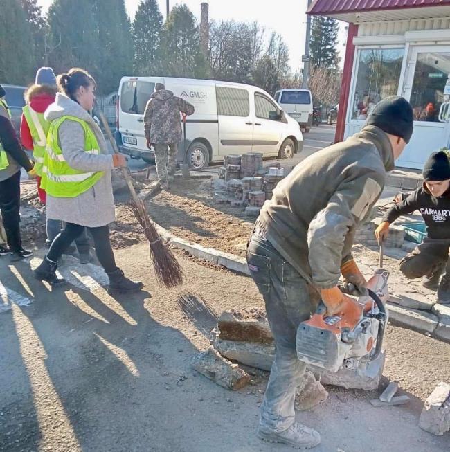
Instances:
[[[409,143],[413,134],[413,109],[400,96],[389,96],[375,105],[366,125],[375,125],[386,134],[399,136]]]

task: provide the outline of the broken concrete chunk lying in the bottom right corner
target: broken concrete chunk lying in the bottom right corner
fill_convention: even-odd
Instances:
[[[426,399],[419,426],[433,435],[442,436],[450,430],[450,385],[441,381]]]

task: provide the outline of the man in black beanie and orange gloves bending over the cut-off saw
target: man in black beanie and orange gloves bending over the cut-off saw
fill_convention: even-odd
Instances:
[[[352,259],[354,233],[381,195],[386,171],[413,134],[413,109],[399,96],[379,102],[361,132],[309,156],[273,190],[249,241],[247,262],[264,297],[276,344],[258,436],[310,449],[320,435],[295,421],[305,363],[296,354],[298,325],[320,299],[327,315],[359,316],[338,287],[341,274],[361,293],[366,280]]]

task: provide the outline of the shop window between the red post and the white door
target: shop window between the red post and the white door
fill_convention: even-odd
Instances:
[[[366,120],[380,100],[397,94],[404,48],[359,51],[352,119]]]

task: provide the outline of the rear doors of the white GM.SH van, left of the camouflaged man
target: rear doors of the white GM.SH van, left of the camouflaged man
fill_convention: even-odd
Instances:
[[[154,85],[160,80],[145,80],[137,77],[124,80],[119,98],[119,132],[126,147],[146,150],[143,114]],[[163,80],[161,79],[161,83]]]

